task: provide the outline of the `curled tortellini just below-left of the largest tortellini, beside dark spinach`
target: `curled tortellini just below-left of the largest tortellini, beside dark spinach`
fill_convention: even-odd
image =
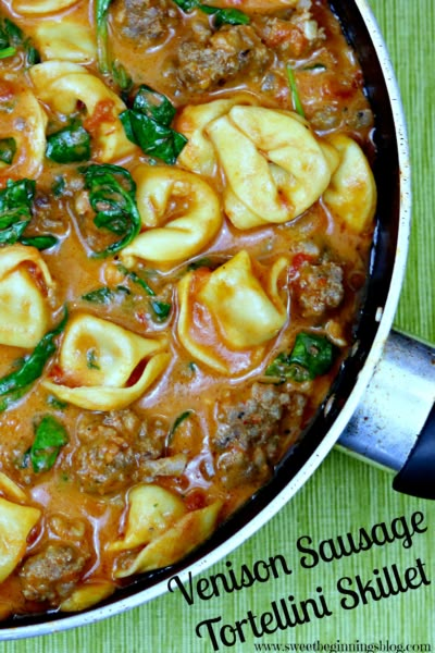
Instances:
[[[126,266],[136,258],[163,264],[187,260],[217,234],[222,225],[219,197],[198,175],[141,165],[133,176],[146,231],[122,250]]]

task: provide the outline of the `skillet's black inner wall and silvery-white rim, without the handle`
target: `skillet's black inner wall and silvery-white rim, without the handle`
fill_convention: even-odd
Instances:
[[[50,632],[53,621],[57,629],[63,629],[104,618],[161,594],[167,579],[174,574],[183,579],[190,565],[192,574],[203,571],[252,534],[291,497],[326,456],[357,408],[385,344],[400,292],[409,237],[409,162],[397,85],[373,16],[366,3],[359,0],[334,1],[331,5],[356,48],[364,72],[376,115],[374,173],[377,187],[383,190],[370,282],[357,333],[358,347],[343,366],[330,401],[318,412],[307,436],[282,461],[273,480],[195,554],[169,570],[138,579],[105,605],[88,613],[4,623],[1,639]]]

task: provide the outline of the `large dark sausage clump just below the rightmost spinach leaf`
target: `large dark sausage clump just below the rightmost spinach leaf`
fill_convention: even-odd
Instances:
[[[299,393],[261,383],[253,383],[237,404],[225,397],[211,441],[222,482],[233,486],[268,478],[281,440],[299,429],[306,403]]]

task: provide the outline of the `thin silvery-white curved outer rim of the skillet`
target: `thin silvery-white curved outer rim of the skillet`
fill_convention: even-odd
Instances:
[[[246,526],[241,527],[235,534],[213,549],[211,552],[207,553],[199,560],[181,570],[178,576],[182,580],[186,580],[189,572],[192,576],[203,574],[211,565],[217,563],[223,557],[231,554],[236,547],[240,546],[240,544],[243,544],[272,517],[274,517],[311,477],[311,475],[315,471],[315,469],[323,461],[338,440],[340,433],[345,429],[350,417],[360,403],[364,390],[372,378],[375,366],[382,356],[386,338],[393,324],[405,275],[410,235],[411,181],[407,130],[399,88],[378,25],[366,0],[355,0],[355,4],[359,9],[366,29],[370,33],[374,50],[377,54],[377,59],[383,71],[385,85],[389,96],[397,140],[397,152],[400,170],[400,214],[395,263],[388,296],[385,305],[378,307],[380,323],[377,332],[365,364],[358,375],[355,387],[337,418],[335,419],[332,428],[316,447],[314,454],[286,484],[286,486],[268,503],[266,507],[263,508],[252,519],[250,519]],[[166,590],[167,578],[157,582],[146,590],[138,591],[125,599],[120,599],[113,604],[102,605],[96,609],[91,609],[83,614],[65,616],[57,619],[55,621],[35,623],[28,626],[20,626],[20,623],[17,621],[16,627],[8,627],[2,630],[0,629],[0,641],[51,634],[70,628],[86,626],[142,605],[148,601],[152,601],[153,599],[165,593]],[[35,620],[37,620],[37,617]]]

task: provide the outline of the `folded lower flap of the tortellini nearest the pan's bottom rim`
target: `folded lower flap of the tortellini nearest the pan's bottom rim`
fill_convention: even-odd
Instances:
[[[204,542],[216,528],[222,503],[216,501],[206,508],[187,513],[163,534],[152,540],[136,556],[130,566],[115,571],[116,578],[160,569],[173,565]]]

